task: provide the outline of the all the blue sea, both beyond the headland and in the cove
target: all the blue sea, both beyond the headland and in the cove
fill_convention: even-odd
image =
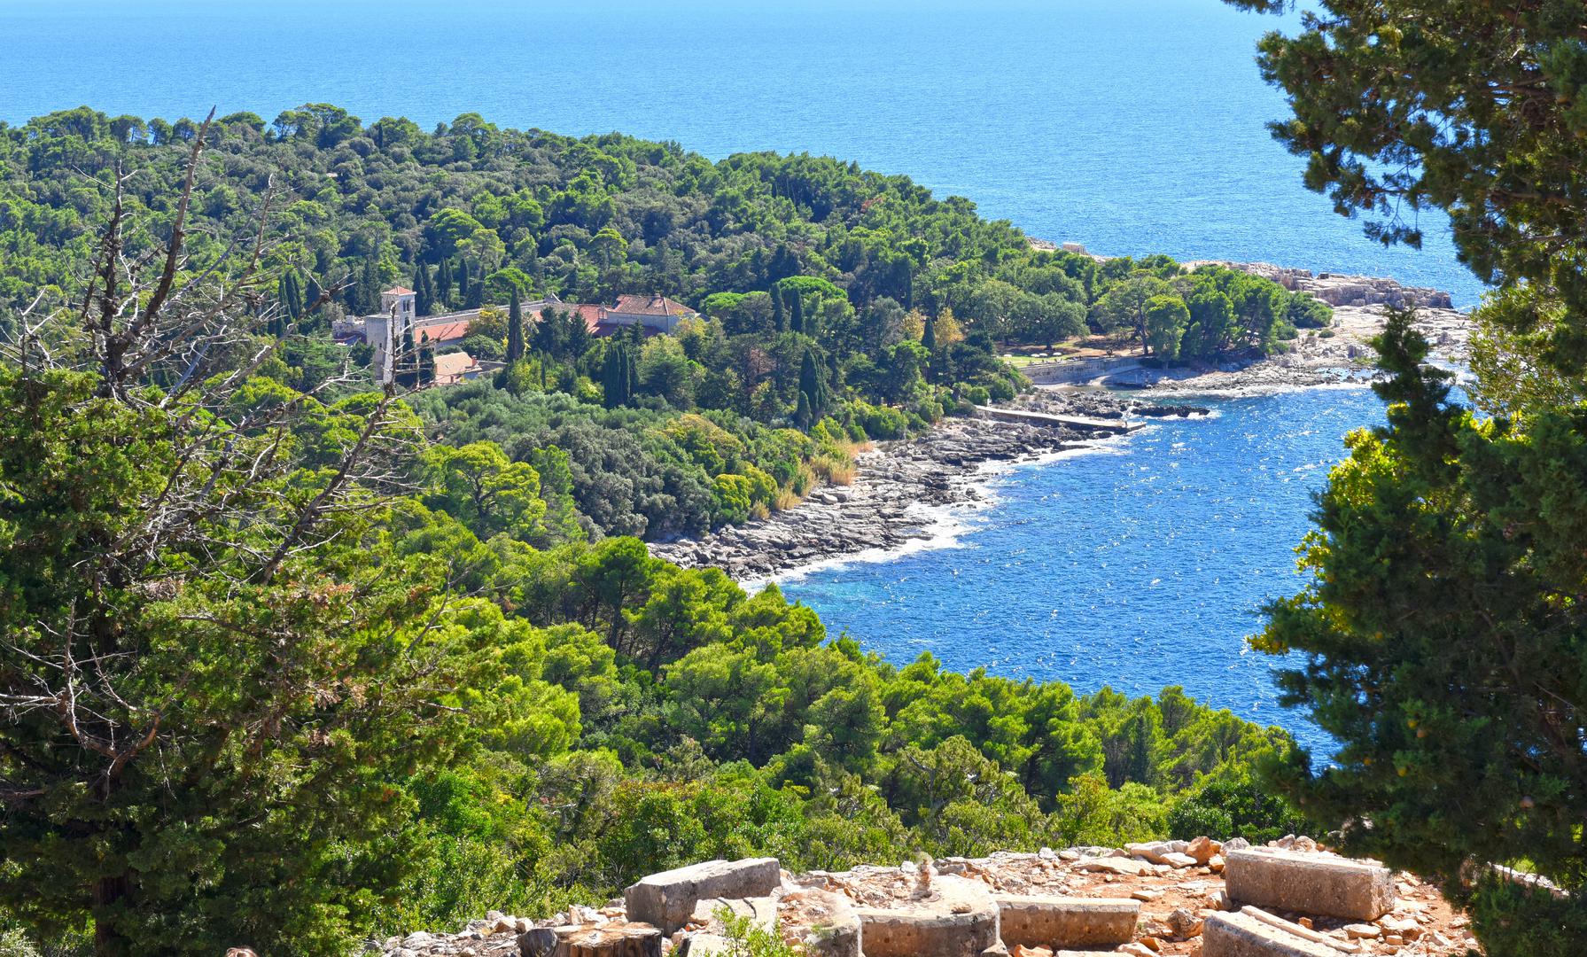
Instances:
[[[1306,2],[1301,2],[1306,6]],[[335,103],[421,125],[463,113],[621,130],[708,157],[843,157],[905,173],[1092,252],[1263,260],[1482,286],[1439,214],[1384,248],[1301,186],[1255,44],[1300,14],[1219,0],[3,0],[0,122],[78,105],[202,117]],[[1365,389],[1216,400],[1090,454],[992,481],[957,548],[789,582],[897,660],[1165,684],[1324,744],[1246,651]]]

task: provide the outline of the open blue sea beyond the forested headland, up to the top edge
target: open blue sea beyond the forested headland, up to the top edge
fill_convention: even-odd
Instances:
[[[1293,22],[1219,0],[3,0],[0,121],[330,102],[709,157],[809,151],[1097,252],[1385,275],[1473,303],[1439,217],[1427,251],[1382,249],[1268,136],[1285,108],[1254,44]]]

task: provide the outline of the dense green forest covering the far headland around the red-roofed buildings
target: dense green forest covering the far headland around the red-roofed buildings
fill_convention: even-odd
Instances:
[[[87,108],[0,125],[0,303],[79,295],[116,168],[132,171],[129,238],[165,235],[198,130]],[[417,290],[421,314],[500,306],[462,343],[508,362],[495,387],[413,406],[449,444],[490,441],[519,462],[568,452],[589,535],[657,538],[784,506],[846,475],[855,443],[1013,397],[1003,343],[1109,333],[1162,360],[1216,359],[1281,349],[1297,325],[1328,321],[1322,303],[1224,268],[1038,251],[968,200],[833,159],[711,163],[671,143],[503,130],[475,114],[425,133],[329,105],[270,124],[225,116],[208,140],[195,254],[246,236],[267,197],[290,236],[262,263],[282,340],[263,375],[319,394],[368,362],[329,330],[378,311],[394,284]],[[705,319],[647,341],[594,338],[568,314],[509,305],[624,292],[660,292]],[[329,397],[359,387],[338,379]]]

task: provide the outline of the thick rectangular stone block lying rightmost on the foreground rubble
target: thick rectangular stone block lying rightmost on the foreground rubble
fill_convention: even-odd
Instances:
[[[1293,851],[1230,851],[1224,889],[1262,908],[1376,920],[1393,908],[1389,868]]]

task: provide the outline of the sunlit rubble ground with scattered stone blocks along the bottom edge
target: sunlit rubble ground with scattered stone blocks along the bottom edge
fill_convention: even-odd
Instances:
[[[725,919],[813,957],[1446,957],[1466,917],[1408,873],[1289,836],[1155,841],[789,874],[770,857],[651,874],[603,908],[492,911],[382,957],[743,954]]]

